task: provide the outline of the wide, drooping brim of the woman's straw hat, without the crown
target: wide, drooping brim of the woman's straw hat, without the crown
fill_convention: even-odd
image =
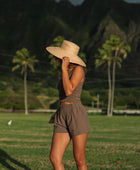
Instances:
[[[46,50],[59,59],[62,59],[63,57],[69,57],[70,63],[74,63],[86,67],[86,64],[79,56],[73,55],[70,52],[63,50],[60,47],[46,47]]]

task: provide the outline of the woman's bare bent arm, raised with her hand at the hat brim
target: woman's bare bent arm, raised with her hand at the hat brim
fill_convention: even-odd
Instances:
[[[77,88],[79,83],[84,80],[84,70],[82,66],[78,65],[74,69],[71,79],[69,79],[68,66],[69,66],[69,58],[64,57],[62,59],[62,79],[63,79],[63,87],[66,96],[70,96]]]

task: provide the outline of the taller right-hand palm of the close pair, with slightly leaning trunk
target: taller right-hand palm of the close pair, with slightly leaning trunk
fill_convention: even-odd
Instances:
[[[110,36],[109,40],[110,45],[112,46],[112,51],[114,54],[113,57],[113,70],[112,70],[112,92],[111,92],[111,115],[113,113],[113,105],[114,105],[114,91],[115,91],[115,70],[116,64],[121,68],[121,63],[127,57],[127,53],[131,51],[129,45],[124,45],[124,42],[121,41],[120,37],[115,35]]]

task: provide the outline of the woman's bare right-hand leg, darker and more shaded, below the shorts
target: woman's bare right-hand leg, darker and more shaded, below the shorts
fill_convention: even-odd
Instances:
[[[85,150],[88,133],[73,136],[73,153],[78,170],[87,170]]]

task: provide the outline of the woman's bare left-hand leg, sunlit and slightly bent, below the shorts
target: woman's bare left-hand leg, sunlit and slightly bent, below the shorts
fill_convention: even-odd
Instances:
[[[50,152],[50,160],[55,170],[64,170],[62,162],[64,152],[70,143],[69,133],[54,133]]]

